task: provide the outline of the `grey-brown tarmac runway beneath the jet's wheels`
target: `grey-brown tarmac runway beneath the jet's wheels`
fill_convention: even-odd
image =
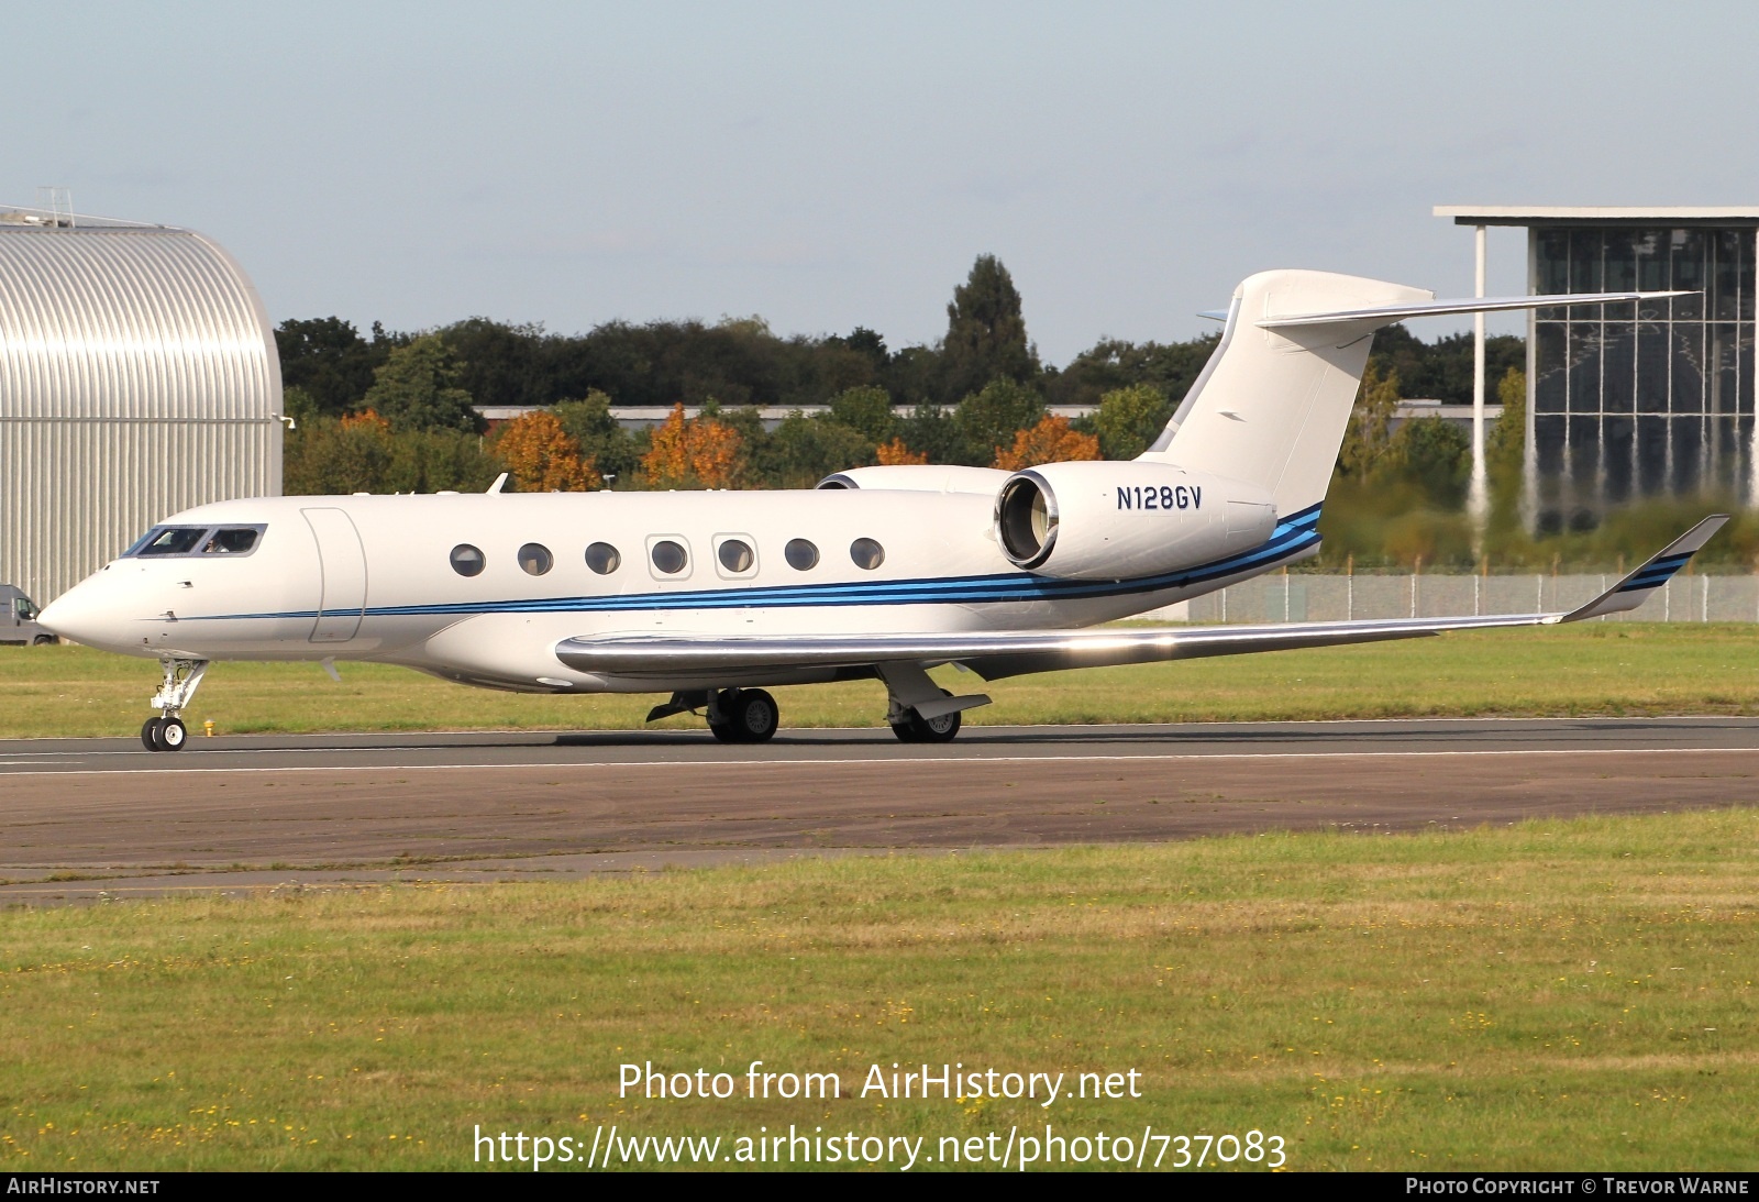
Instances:
[[[0,903],[1752,804],[1755,718],[0,741]]]

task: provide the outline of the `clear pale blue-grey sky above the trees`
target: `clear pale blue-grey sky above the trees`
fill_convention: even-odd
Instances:
[[[361,329],[897,348],[994,253],[1064,364],[1268,268],[1469,296],[1435,204],[1759,204],[1755,53],[1740,4],[67,2],[0,39],[0,206],[199,229]]]

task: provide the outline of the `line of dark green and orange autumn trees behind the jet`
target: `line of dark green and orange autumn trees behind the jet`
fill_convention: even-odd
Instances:
[[[758,317],[607,322],[552,334],[473,317],[440,329],[362,336],[336,317],[276,331],[287,412],[288,493],[485,487],[510,472],[521,489],[807,487],[869,463],[1022,466],[1140,454],[1196,380],[1217,336],[1098,341],[1066,366],[1045,364],[1018,289],[980,255],[953,289],[934,345],[885,336],[777,336]],[[1522,355],[1520,340],[1493,340]],[[1402,329],[1377,354],[1442,399],[1471,387],[1471,340],[1423,343]],[[1087,405],[1075,422],[1050,405]],[[538,407],[484,438],[473,405]],[[670,417],[623,431],[609,410]],[[686,419],[681,407],[702,407]],[[827,405],[763,429],[756,407]],[[908,415],[895,415],[908,407]],[[1458,465],[1421,470],[1437,480]],[[1416,463],[1416,459],[1411,459]],[[1444,484],[1437,484],[1446,491]]]

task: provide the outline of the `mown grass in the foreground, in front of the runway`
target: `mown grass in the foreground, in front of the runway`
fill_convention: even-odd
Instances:
[[[1759,815],[0,912],[5,1169],[457,1169],[471,1133],[1261,1130],[1293,1169],[1752,1170]],[[839,1072],[617,1098],[617,1065]],[[1142,1072],[878,1102],[869,1065]],[[931,1165],[932,1167],[932,1165]]]

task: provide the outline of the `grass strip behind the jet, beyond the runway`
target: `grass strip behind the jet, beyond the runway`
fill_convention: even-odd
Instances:
[[[528,697],[406,669],[216,663],[185,715],[192,732],[633,729],[656,697]],[[1585,623],[1412,642],[1089,669],[983,685],[971,723],[1228,722],[1469,715],[1759,713],[1759,627]],[[158,667],[84,648],[0,648],[0,737],[132,734]],[[776,690],[785,727],[864,727],[878,683]],[[700,727],[679,716],[674,727]]]

